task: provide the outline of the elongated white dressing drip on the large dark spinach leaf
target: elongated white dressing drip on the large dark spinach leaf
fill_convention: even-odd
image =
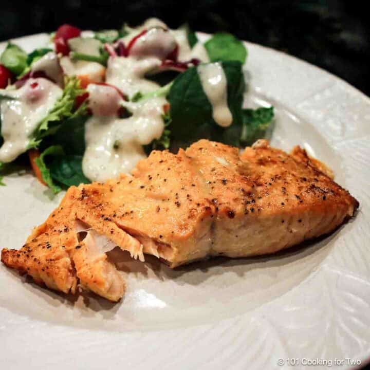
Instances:
[[[232,114],[227,103],[227,80],[220,63],[200,64],[197,67],[202,88],[212,105],[212,117],[221,127],[232,123]]]

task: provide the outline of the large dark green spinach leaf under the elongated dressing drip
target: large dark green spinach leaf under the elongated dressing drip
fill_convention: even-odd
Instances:
[[[216,124],[212,117],[212,105],[201,86],[197,68],[189,68],[175,79],[167,98],[170,102],[172,123],[169,128],[174,149],[186,147],[200,138],[239,144],[245,90],[242,64],[227,61],[221,65],[227,79],[228,106],[233,123],[226,129]]]

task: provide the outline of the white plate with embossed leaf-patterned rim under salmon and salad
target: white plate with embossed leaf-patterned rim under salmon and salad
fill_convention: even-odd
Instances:
[[[32,50],[46,41],[41,34],[16,42]],[[272,144],[300,144],[329,164],[360,201],[356,218],[276,256],[172,271],[155,259],[141,264],[120,254],[128,291],[118,304],[66,298],[2,265],[2,368],[265,369],[279,359],[289,368],[293,358],[291,365],[300,362],[295,369],[304,361],[335,367],[335,359],[345,369],[352,367],[346,359],[369,357],[370,100],[317,67],[247,46],[248,104],[275,105]],[[0,247],[18,248],[60,196],[50,201],[30,174],[5,181]]]

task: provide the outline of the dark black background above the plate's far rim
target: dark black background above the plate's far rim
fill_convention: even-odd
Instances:
[[[0,40],[52,31],[63,23],[119,28],[156,16],[170,27],[189,23],[205,32],[295,55],[335,73],[370,95],[369,12],[366,1],[65,0],[1,1]]]

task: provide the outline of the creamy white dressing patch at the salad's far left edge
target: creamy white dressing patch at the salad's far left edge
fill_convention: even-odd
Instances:
[[[11,162],[26,151],[30,135],[62,93],[59,86],[44,78],[28,79],[21,88],[8,91],[14,100],[2,100],[0,105],[4,138],[1,162]]]

